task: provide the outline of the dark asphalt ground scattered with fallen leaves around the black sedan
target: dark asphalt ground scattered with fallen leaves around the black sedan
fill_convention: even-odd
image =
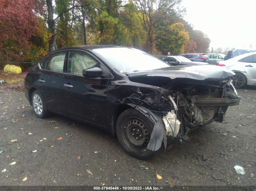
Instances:
[[[189,142],[142,161],[101,129],[59,115],[37,118],[23,81],[4,82],[0,186],[256,186],[256,87],[237,91],[241,103],[228,108],[224,123],[201,127]]]

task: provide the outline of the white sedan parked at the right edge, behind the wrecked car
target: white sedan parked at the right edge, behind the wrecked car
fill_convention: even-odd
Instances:
[[[216,65],[227,68],[236,74],[232,76],[232,84],[235,88],[242,88],[246,84],[256,85],[256,52],[218,61]]]

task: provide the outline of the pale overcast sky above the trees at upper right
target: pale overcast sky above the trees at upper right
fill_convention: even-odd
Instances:
[[[210,47],[256,49],[256,0],[183,0],[184,19],[211,39]]]

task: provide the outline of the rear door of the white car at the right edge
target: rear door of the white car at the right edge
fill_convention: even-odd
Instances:
[[[253,83],[256,83],[256,54],[238,60]]]

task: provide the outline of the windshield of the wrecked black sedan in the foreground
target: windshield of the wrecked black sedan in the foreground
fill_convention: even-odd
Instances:
[[[170,67],[160,59],[138,49],[117,47],[94,51],[107,59],[121,73]]]

